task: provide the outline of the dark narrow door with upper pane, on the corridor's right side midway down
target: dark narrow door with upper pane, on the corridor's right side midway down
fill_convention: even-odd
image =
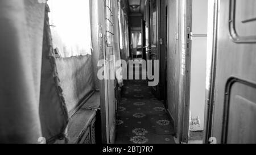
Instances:
[[[151,34],[150,34],[150,39],[151,39],[151,49],[149,52],[150,55],[150,60],[152,60],[153,64],[152,64],[152,74],[154,73],[154,60],[159,60],[160,63],[160,55],[159,55],[159,26],[160,26],[160,1],[159,0],[152,0],[150,1],[150,5],[151,5],[151,10],[150,10],[150,14],[151,14]],[[149,68],[150,69],[150,68]],[[159,65],[159,69],[157,70],[159,72],[159,76],[160,76],[160,65]],[[159,89],[160,85],[157,86],[152,86],[152,92],[154,95],[156,95],[156,97],[160,97],[160,89]]]

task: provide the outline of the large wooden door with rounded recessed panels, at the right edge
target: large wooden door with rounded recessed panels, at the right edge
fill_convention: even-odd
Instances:
[[[212,125],[217,143],[256,143],[256,1],[216,1]],[[214,75],[213,74],[213,75]]]

